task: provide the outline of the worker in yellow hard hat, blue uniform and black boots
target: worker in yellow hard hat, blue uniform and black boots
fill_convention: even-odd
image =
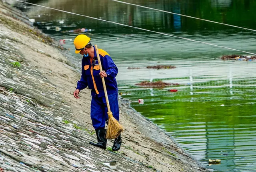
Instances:
[[[118,73],[118,68],[106,51],[98,49],[100,61],[102,63],[102,72],[100,72],[100,66],[95,47],[92,46],[90,43],[90,38],[86,35],[78,35],[74,39],[74,45],[76,48],[75,53],[80,53],[83,56],[82,76],[81,79],[77,82],[77,87],[74,91],[74,97],[79,98],[78,94],[87,86],[90,90],[92,90],[90,115],[92,119],[92,125],[96,131],[98,143],[90,142],[90,145],[106,149],[107,139],[105,138],[105,126],[108,120],[108,108],[106,104],[102,78],[105,78],[110,109],[113,113],[113,117],[119,121],[118,88],[115,78]],[[118,151],[121,147],[121,144],[122,139],[121,135],[119,135],[116,139],[114,139],[112,151]]]

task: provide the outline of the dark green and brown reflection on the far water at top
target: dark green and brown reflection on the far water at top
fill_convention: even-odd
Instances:
[[[34,2],[34,0],[29,0],[28,2]],[[254,28],[256,24],[254,11],[256,2],[254,0],[150,0],[148,2],[136,0],[127,2],[241,27]],[[230,27],[224,25],[166,14],[110,0],[50,0],[41,4],[113,22],[168,32],[230,29]],[[38,13],[43,13],[44,11],[41,8],[38,11],[38,8],[36,8],[36,10],[30,11],[30,16],[38,16]],[[66,24],[68,25],[76,23],[80,27],[96,26],[101,32],[106,28],[120,27],[54,10],[47,10],[47,12],[50,12],[50,20],[66,19]],[[46,17],[42,16],[42,18],[49,20],[48,15]],[[103,25],[104,28],[102,28]],[[119,30],[119,32],[124,33],[124,30]]]

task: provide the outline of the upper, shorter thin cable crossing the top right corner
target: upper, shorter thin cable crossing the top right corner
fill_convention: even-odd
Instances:
[[[193,18],[193,19],[197,19],[197,20],[203,20],[203,21],[206,21],[206,22],[212,22],[212,23],[227,25],[227,26],[231,26],[231,27],[237,27],[237,28],[240,28],[240,29],[246,29],[246,30],[250,30],[250,31],[256,31],[256,30],[254,30],[254,29],[248,29],[248,28],[245,28],[245,27],[239,27],[239,26],[230,25],[230,24],[226,24],[226,23],[214,22],[214,21],[212,21],[212,20],[206,20],[206,19],[196,18],[196,17],[192,17],[192,16],[186,16],[186,15],[184,15],[184,14],[178,14],[178,13],[174,13],[174,12],[168,12],[168,11],[159,10],[159,9],[156,9],[156,8],[150,8],[150,7],[141,6],[141,5],[137,5],[137,4],[132,4],[132,3],[128,3],[128,2],[123,2],[123,1],[119,1],[119,0],[112,0],[112,1],[120,2],[120,3],[123,3],[123,4],[129,4],[129,5],[132,5],[132,6],[138,6],[138,7],[142,7],[142,8],[147,8],[147,9],[150,9],[150,10],[156,10],[156,11],[160,11],[160,12],[165,12],[165,13],[169,13],[169,14],[175,14],[175,15],[178,15],[178,16],[184,16],[184,17],[188,17],[188,18]]]

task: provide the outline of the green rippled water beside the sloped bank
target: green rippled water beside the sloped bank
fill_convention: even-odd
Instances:
[[[30,0],[29,2],[33,2]],[[124,23],[176,36],[205,41],[256,53],[256,33],[224,25],[164,14],[110,0],[36,1],[104,20]],[[255,0],[127,0],[160,10],[216,22],[256,29]],[[28,8],[26,8],[28,10]],[[40,14],[40,18],[38,15]],[[92,29],[86,34],[92,43],[106,50],[119,68],[119,92],[132,107],[164,129],[204,166],[218,172],[256,171],[256,62],[221,61],[222,55],[240,54],[164,35],[100,22],[44,8],[30,8],[30,18],[57,40],[72,41],[77,28]],[[59,21],[64,20],[63,24]],[[42,23],[43,22],[43,23]],[[55,31],[61,27],[63,32]],[[214,60],[214,58],[216,58]],[[150,70],[149,65],[174,65],[172,70]],[[140,67],[140,69],[127,69]],[[143,80],[178,83],[164,89],[135,86]],[[177,89],[172,93],[168,90]],[[138,99],[144,104],[138,104]],[[208,165],[208,159],[221,159]]]

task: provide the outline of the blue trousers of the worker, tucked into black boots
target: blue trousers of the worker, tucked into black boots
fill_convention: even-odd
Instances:
[[[113,117],[119,121],[119,106],[118,106],[118,93],[108,95],[110,109],[113,113]],[[108,108],[106,104],[106,98],[92,96],[91,102],[91,119],[94,129],[104,129],[105,123],[108,120]]]

